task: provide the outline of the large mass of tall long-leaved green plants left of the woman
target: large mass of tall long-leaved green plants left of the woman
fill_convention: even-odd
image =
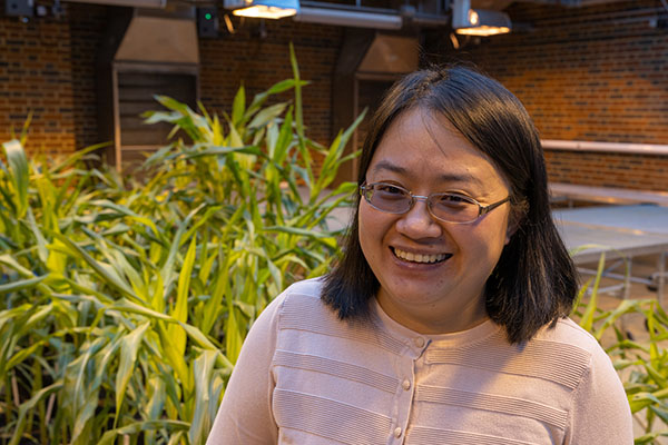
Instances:
[[[323,274],[327,191],[354,126],[304,136],[299,77],[220,120],[166,97],[175,140],[132,182],[85,161],[0,162],[0,443],[202,444],[257,314]],[[267,105],[293,90],[294,103]],[[322,154],[322,174],[313,171]],[[122,436],[122,437],[121,437]]]

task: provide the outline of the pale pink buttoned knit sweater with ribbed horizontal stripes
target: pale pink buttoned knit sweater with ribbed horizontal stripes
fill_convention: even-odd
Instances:
[[[570,319],[511,345],[488,320],[421,335],[297,283],[258,317],[207,445],[629,445],[631,414],[596,339]]]

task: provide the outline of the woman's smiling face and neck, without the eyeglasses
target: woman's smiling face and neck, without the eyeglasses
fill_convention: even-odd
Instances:
[[[501,172],[480,150],[445,118],[420,108],[401,115],[383,136],[366,171],[366,184],[379,181],[421,196],[455,191],[482,206],[509,195]],[[360,244],[380,281],[383,310],[422,334],[482,323],[485,281],[511,235],[509,212],[507,202],[473,222],[452,224],[431,216],[424,201],[393,215],[362,199]],[[440,260],[425,263],[434,258]]]

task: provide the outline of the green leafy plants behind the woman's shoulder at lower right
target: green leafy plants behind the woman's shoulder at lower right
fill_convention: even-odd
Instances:
[[[644,429],[635,444],[659,444],[660,437],[668,436],[668,315],[656,299],[627,299],[615,309],[600,309],[598,293],[605,263],[603,254],[597,274],[580,289],[574,316],[603,345],[621,377],[631,413]],[[590,297],[582,303],[587,293]],[[645,322],[646,340],[633,339],[625,329],[628,317]]]

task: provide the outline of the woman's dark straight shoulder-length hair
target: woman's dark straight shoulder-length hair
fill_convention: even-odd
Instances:
[[[415,107],[444,116],[510,185],[517,231],[488,278],[485,308],[510,343],[528,340],[571,312],[578,289],[573,263],[552,221],[538,131],[522,103],[495,80],[461,66],[416,71],[396,82],[375,112],[358,185],[390,125]],[[324,277],[322,290],[322,299],[348,320],[369,316],[369,301],[380,287],[360,246],[358,194],[355,199],[343,257]]]

